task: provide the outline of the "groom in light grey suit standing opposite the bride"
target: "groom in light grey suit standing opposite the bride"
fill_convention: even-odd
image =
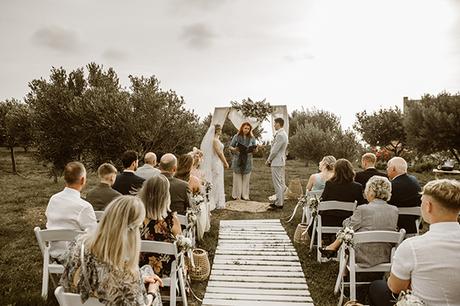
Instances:
[[[275,119],[275,136],[265,164],[271,167],[272,180],[275,187],[276,200],[270,204],[271,210],[283,208],[284,201],[284,166],[286,164],[286,148],[288,137],[283,129],[284,120],[282,118]]]

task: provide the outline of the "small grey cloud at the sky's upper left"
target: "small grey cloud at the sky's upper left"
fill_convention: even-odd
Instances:
[[[81,44],[75,31],[59,26],[46,26],[32,34],[32,42],[60,52],[74,52]]]

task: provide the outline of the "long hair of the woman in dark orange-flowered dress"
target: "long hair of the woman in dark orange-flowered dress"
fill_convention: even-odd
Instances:
[[[145,215],[150,220],[164,219],[171,211],[169,181],[166,176],[159,174],[145,181],[139,191],[139,197],[145,206]]]

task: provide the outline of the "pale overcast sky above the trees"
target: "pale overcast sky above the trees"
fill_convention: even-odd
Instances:
[[[460,0],[2,0],[0,100],[96,62],[155,75],[200,117],[230,101],[324,109],[344,128],[460,91]]]

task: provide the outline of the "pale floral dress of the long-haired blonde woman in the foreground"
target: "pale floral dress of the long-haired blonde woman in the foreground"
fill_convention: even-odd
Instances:
[[[90,297],[96,297],[99,302],[109,306],[147,304],[147,292],[140,271],[134,275],[116,269],[99,261],[87,249],[84,250],[83,269],[81,246],[81,239],[70,243],[64,273],[59,282],[66,292],[80,294],[83,303]]]

